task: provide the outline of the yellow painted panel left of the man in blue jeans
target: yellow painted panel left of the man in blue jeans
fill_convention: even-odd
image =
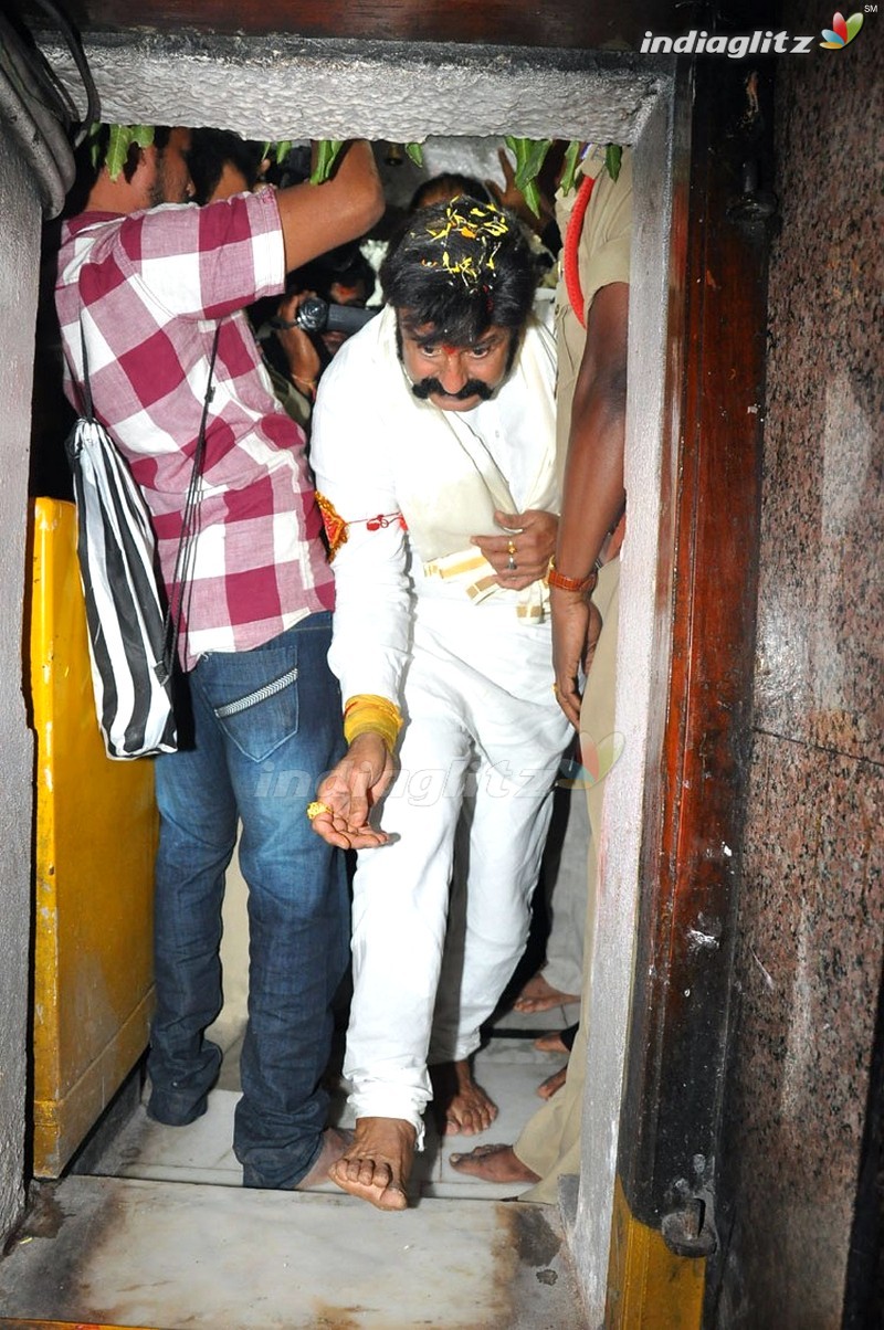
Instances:
[[[157,814],[149,759],[113,762],[92,700],[73,504],[33,515],[37,737],[33,1172],[57,1177],[148,1039]]]

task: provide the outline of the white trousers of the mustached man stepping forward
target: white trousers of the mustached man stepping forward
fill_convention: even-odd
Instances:
[[[343,1071],[358,1117],[406,1119],[422,1136],[427,1061],[478,1048],[525,950],[568,738],[551,681],[549,624],[419,606],[379,819],[398,839],[359,851],[354,880]]]

